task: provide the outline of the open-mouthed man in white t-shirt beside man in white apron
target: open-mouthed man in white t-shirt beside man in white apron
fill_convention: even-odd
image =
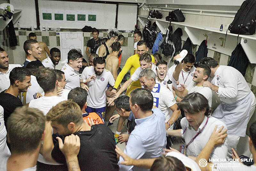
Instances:
[[[180,102],[182,98],[188,94],[197,92],[204,95],[204,97],[208,100],[209,106],[212,106],[212,90],[209,87],[202,86],[202,84],[207,81],[210,74],[211,69],[207,65],[199,64],[196,68],[196,71],[193,73],[194,76],[192,82],[190,82],[190,84],[184,90],[178,91],[175,88],[173,89],[175,94],[178,96],[176,100]]]

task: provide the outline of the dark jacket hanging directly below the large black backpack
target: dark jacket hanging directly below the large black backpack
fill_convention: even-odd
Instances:
[[[249,59],[247,58],[241,43],[239,43],[236,46],[235,50],[231,53],[231,58],[228,62],[228,66],[236,68],[244,76],[248,64]]]

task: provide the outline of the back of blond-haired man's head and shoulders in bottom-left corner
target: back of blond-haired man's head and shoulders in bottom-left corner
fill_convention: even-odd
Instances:
[[[36,171],[36,160],[44,139],[45,117],[41,111],[17,108],[6,123],[12,154],[0,154],[0,169]]]

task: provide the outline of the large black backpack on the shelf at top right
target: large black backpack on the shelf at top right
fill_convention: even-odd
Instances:
[[[256,1],[246,0],[237,11],[233,22],[228,26],[230,33],[253,35],[256,28]]]

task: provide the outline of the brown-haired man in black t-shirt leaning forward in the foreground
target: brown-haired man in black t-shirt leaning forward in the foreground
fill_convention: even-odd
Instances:
[[[44,158],[49,161],[66,163],[59,144],[53,146],[53,134],[69,136],[78,135],[80,151],[77,155],[81,171],[118,171],[115,152],[115,139],[112,131],[104,124],[89,126],[83,120],[81,109],[72,100],[60,102],[47,113],[44,137]],[[64,141],[64,138],[62,139]]]

